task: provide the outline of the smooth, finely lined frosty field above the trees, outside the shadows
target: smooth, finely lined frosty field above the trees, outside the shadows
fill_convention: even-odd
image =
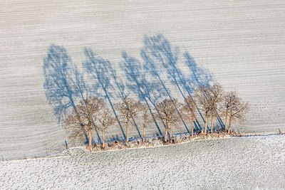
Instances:
[[[64,148],[66,134],[43,90],[43,57],[52,43],[65,46],[78,67],[85,46],[116,67],[122,51],[139,58],[143,36],[156,33],[250,103],[242,130],[285,131],[284,9],[283,0],[1,0],[0,154]]]

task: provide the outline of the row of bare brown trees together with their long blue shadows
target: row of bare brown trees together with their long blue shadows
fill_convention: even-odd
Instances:
[[[160,33],[145,36],[142,43],[140,58],[123,51],[118,68],[84,48],[86,59],[81,69],[66,48],[51,45],[43,58],[43,88],[58,124],[66,125],[72,139],[84,137],[92,146],[96,134],[99,142],[105,142],[105,130],[118,124],[127,142],[130,127],[135,127],[144,141],[145,128],[157,127],[157,136],[165,136],[166,142],[174,127],[184,126],[192,134],[195,129],[207,134],[217,127],[231,132],[232,124],[244,119],[247,103],[235,92],[225,93],[217,83],[210,85],[212,75],[199,67],[188,51],[180,53],[180,47],[172,46]],[[186,66],[183,72],[180,64]],[[173,95],[185,102],[178,102]],[[215,125],[217,121],[219,125]]]

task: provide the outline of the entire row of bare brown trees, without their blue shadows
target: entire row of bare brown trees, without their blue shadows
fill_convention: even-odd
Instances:
[[[88,147],[92,147],[93,131],[101,132],[101,141],[105,147],[105,132],[108,128],[115,126],[116,121],[125,127],[126,139],[129,142],[130,127],[140,126],[142,128],[142,142],[145,142],[146,128],[154,127],[154,122],[160,122],[164,126],[164,141],[172,139],[173,129],[179,127],[183,120],[190,122],[191,134],[195,129],[198,112],[202,112],[204,119],[204,134],[213,132],[214,122],[224,118],[224,132],[232,131],[235,121],[243,121],[249,105],[238,97],[235,91],[224,92],[222,85],[199,86],[192,96],[185,98],[180,103],[175,98],[165,98],[157,102],[156,109],[151,114],[145,102],[125,97],[121,102],[115,104],[118,112],[116,120],[105,101],[99,97],[87,97],[81,100],[76,109],[68,115],[65,120],[66,129],[70,132],[71,139],[88,134]],[[168,137],[169,134],[169,138]]]

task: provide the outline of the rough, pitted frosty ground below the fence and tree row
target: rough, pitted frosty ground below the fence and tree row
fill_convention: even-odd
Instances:
[[[0,162],[0,189],[285,189],[285,136]]]

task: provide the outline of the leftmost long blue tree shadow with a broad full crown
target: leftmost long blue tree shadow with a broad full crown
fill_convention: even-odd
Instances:
[[[43,75],[46,98],[53,106],[58,124],[63,125],[69,111],[74,110],[78,115],[76,102],[78,99],[85,100],[88,88],[63,46],[51,45],[48,54],[43,58]],[[84,127],[82,122],[81,127]],[[84,136],[88,142],[86,132]]]

